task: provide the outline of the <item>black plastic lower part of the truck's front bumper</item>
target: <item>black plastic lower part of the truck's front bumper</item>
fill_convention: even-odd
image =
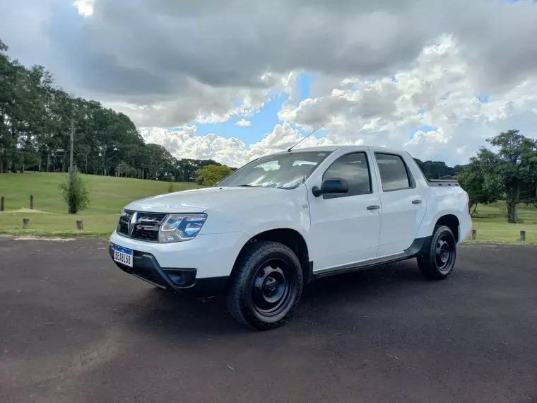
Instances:
[[[114,257],[114,244],[108,245],[110,257]],[[125,264],[114,263],[125,273],[147,281],[153,286],[158,286],[173,292],[184,293],[191,296],[207,297],[221,293],[225,289],[229,276],[205,277],[196,279],[195,268],[166,268],[160,267],[157,259],[151,253],[134,251],[133,267]]]

